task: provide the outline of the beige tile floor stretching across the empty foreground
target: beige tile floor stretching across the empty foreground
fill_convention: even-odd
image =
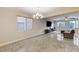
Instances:
[[[3,47],[0,52],[77,52],[79,48],[73,40],[58,41],[54,34],[25,39]]]

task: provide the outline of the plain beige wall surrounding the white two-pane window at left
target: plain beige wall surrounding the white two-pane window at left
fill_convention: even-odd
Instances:
[[[43,33],[44,20],[33,20],[32,30],[19,32],[17,30],[17,15],[27,17],[27,14],[23,12],[0,8],[0,44]]]

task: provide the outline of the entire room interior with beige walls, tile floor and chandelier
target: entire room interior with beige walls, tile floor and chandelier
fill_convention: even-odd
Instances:
[[[79,8],[4,7],[0,12],[0,52],[79,51]]]

